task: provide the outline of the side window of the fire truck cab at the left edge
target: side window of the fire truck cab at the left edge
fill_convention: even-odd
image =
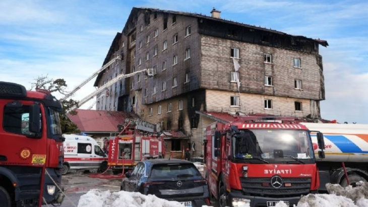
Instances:
[[[42,118],[41,118],[42,120]],[[41,122],[40,120],[40,122]],[[40,124],[40,127],[42,123]],[[29,106],[5,107],[3,127],[7,132],[32,136],[29,131]]]

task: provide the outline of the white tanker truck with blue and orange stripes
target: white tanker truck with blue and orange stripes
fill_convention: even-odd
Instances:
[[[320,173],[320,191],[326,190],[326,183],[347,186],[357,181],[368,181],[368,125],[366,124],[323,124],[300,123],[312,131],[315,153],[318,142],[313,131],[320,131],[325,140],[325,159],[316,156]],[[343,164],[346,167],[347,178]]]

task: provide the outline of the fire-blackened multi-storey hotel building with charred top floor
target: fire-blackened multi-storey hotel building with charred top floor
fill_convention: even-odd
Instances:
[[[325,99],[322,57],[325,40],[293,36],[211,17],[133,8],[117,33],[101,72],[100,87],[117,75],[151,68],[122,79],[97,96],[97,110],[134,111],[159,131],[181,131],[171,150],[202,155],[203,112],[268,114],[319,119]],[[108,94],[108,95],[106,95]],[[180,144],[178,144],[180,143]]]

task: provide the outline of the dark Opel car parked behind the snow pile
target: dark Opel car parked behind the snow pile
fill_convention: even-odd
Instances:
[[[139,162],[122,180],[121,190],[153,194],[189,207],[210,204],[206,180],[192,162],[185,160]]]

